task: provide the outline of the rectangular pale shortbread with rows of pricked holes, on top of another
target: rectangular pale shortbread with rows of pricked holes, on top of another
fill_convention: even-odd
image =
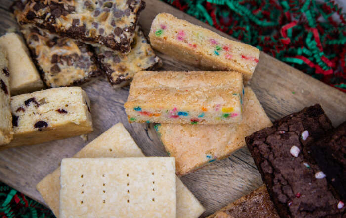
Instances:
[[[170,157],[65,158],[60,218],[176,218]]]

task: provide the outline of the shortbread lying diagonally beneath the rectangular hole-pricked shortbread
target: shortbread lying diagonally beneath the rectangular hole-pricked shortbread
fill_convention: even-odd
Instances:
[[[87,144],[79,151],[75,158],[100,158],[100,157],[144,157],[129,132],[122,123],[118,123],[100,136]],[[36,186],[44,201],[59,218],[60,196],[60,168],[44,177]],[[181,180],[176,177],[176,217],[198,218],[205,209],[186,188]]]

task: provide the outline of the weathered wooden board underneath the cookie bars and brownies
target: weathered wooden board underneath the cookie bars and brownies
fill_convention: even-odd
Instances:
[[[171,13],[178,18],[211,29],[230,38],[209,25],[163,3],[145,0],[140,24],[148,34],[156,14]],[[11,0],[0,0],[0,35],[17,27],[8,8]],[[195,70],[169,56],[158,53],[164,66],[160,70]],[[320,103],[336,126],[346,120],[346,94],[298,71],[275,58],[261,53],[251,80],[251,87],[272,121],[306,106]],[[129,87],[113,90],[104,78],[83,87],[91,100],[94,131],[92,139],[117,122],[122,122],[147,156],[166,156],[153,124],[128,123],[123,104]],[[0,180],[44,204],[36,184],[55,170],[62,158],[71,157],[88,142],[80,137],[18,147],[0,152]],[[181,180],[206,208],[205,217],[226,204],[251,192],[262,184],[259,172],[247,148],[222,161],[216,161]]]

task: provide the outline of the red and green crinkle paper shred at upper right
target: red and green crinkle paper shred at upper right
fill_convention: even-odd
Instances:
[[[346,92],[346,14],[332,0],[163,0]]]

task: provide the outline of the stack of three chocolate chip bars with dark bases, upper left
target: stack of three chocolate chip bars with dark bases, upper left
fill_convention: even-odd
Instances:
[[[48,87],[81,85],[104,72],[122,87],[161,65],[138,23],[142,0],[15,1],[13,13]]]

